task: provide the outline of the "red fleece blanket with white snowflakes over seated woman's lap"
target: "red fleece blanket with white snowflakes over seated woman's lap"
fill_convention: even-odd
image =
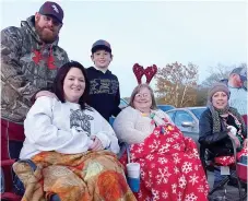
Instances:
[[[177,127],[156,127],[143,143],[130,146],[130,156],[141,165],[138,200],[208,200],[209,185],[197,145]],[[125,165],[127,155],[120,162]]]

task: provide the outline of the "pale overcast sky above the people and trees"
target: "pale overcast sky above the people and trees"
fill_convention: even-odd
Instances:
[[[20,26],[44,1],[1,2],[1,29]],[[109,66],[122,97],[137,81],[132,66],[158,68],[175,61],[199,66],[200,81],[217,63],[247,62],[247,1],[57,1],[64,10],[60,46],[90,67],[97,39],[111,44]],[[154,86],[154,81],[153,81]]]

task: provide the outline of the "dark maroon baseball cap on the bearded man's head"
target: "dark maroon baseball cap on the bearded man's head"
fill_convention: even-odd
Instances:
[[[38,11],[40,14],[44,15],[52,15],[55,16],[60,23],[63,21],[63,10],[61,7],[51,1],[46,1]]]

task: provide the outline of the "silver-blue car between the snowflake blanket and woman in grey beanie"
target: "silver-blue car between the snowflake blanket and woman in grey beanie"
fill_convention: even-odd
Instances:
[[[170,109],[166,114],[181,132],[192,138],[199,146],[199,119],[205,109],[206,107],[185,107]]]

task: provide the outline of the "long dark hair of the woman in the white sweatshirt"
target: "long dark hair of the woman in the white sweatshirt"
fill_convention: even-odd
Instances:
[[[78,68],[82,71],[84,79],[85,79],[85,90],[83,92],[83,95],[80,97],[79,99],[79,104],[81,106],[81,109],[85,108],[85,103],[86,103],[86,98],[88,96],[88,91],[90,91],[90,82],[86,75],[86,71],[84,69],[84,67],[76,61],[71,61],[71,62],[67,62],[64,63],[59,70],[58,73],[55,78],[55,82],[54,82],[54,93],[56,94],[56,96],[59,98],[60,102],[64,103],[64,92],[63,92],[63,81],[68,74],[68,72],[72,69],[72,68]]]

